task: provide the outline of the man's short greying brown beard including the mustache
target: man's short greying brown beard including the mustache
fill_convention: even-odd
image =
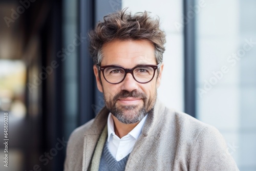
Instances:
[[[104,94],[106,109],[108,109],[122,123],[138,123],[146,116],[147,113],[153,111],[157,97],[156,92],[157,91],[155,91],[155,94],[149,98],[147,98],[145,93],[138,92],[137,90],[133,90],[132,92],[122,90],[117,93],[112,99],[107,99]],[[127,97],[141,98],[143,101],[143,105],[139,106],[140,104],[138,104],[117,106],[118,99]]]

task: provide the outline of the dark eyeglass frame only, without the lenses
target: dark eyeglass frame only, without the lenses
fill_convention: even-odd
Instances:
[[[152,81],[152,79],[155,77],[156,70],[159,69],[160,66],[161,66],[161,63],[158,63],[158,65],[146,65],[146,64],[145,64],[145,65],[138,65],[138,66],[135,66],[134,68],[124,68],[124,67],[118,66],[118,65],[108,65],[108,66],[99,66],[99,65],[96,65],[96,67],[98,68],[98,70],[102,72],[103,77],[104,77],[105,80],[106,80],[106,78],[105,78],[104,70],[105,70],[106,68],[108,68],[108,67],[120,67],[120,68],[122,68],[122,69],[124,70],[125,73],[124,73],[123,79],[122,79],[121,81],[119,81],[119,82],[117,82],[117,83],[112,83],[112,82],[106,80],[106,82],[109,82],[109,83],[111,83],[111,84],[118,84],[118,83],[122,82],[122,81],[125,79],[127,73],[131,73],[132,76],[133,76],[133,79],[134,79],[135,81],[139,82],[139,83],[147,83],[147,82],[150,82],[150,81]],[[138,68],[138,67],[151,67],[151,68],[153,68],[154,74],[153,74],[151,80],[149,80],[149,81],[147,81],[147,82],[140,82],[140,81],[136,80],[135,76],[133,75],[133,71],[134,71],[134,69],[136,69],[136,68]]]

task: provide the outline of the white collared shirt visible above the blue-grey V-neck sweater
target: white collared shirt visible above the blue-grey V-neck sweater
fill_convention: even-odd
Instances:
[[[114,121],[112,118],[112,114],[109,114],[108,117],[108,147],[112,156],[120,161],[127,155],[129,155],[139,138],[144,123],[146,121],[147,115],[134,127],[134,129],[122,137],[121,139],[115,134],[114,131]]]

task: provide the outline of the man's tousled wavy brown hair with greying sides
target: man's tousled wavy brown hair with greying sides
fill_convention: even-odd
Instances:
[[[153,18],[147,11],[132,15],[126,9],[104,16],[103,21],[89,32],[89,51],[94,64],[99,65],[102,60],[102,46],[116,39],[148,40],[155,47],[157,62],[162,62],[166,39],[160,29],[159,17]]]

